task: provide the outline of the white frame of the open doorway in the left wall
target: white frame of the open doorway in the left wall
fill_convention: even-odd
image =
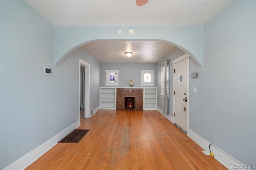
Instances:
[[[79,81],[78,81],[78,122],[80,125],[80,113],[81,113],[81,65],[84,66],[84,118],[90,118],[90,67],[91,65],[86,61],[79,59]]]

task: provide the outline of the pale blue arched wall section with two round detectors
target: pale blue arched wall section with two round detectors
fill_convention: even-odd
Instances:
[[[116,29],[123,34],[117,35]],[[203,64],[203,26],[132,26],[135,33],[128,35],[130,26],[56,26],[54,30],[54,65],[70,51],[96,40],[159,40],[179,47],[198,65]]]

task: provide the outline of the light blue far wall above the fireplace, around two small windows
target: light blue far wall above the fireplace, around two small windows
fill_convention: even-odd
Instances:
[[[100,86],[106,86],[105,70],[119,70],[119,85],[117,87],[129,87],[129,81],[134,80],[134,87],[141,86],[141,70],[154,70],[154,86],[156,87],[156,64],[141,63],[100,63]]]

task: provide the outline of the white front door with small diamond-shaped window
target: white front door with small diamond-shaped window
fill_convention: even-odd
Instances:
[[[184,57],[183,57],[184,58]],[[182,131],[187,131],[187,85],[188,85],[188,57],[174,63],[174,124]]]

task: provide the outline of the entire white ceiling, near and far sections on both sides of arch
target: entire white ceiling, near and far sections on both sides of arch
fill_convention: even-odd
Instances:
[[[203,26],[233,0],[26,0],[54,25]],[[99,48],[100,47],[100,48]],[[154,41],[92,42],[83,48],[102,63],[157,63],[174,47]],[[134,54],[127,58],[124,52]]]

